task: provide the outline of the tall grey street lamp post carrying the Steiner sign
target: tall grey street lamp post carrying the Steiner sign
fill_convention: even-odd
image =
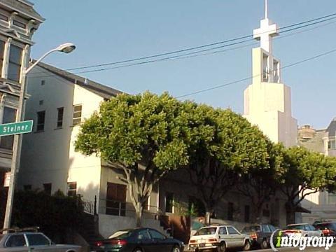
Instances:
[[[59,45],[57,48],[54,48],[48,52],[46,52],[42,57],[40,57],[34,64],[29,66],[28,68],[22,70],[21,76],[21,87],[20,87],[20,97],[19,97],[19,106],[18,106],[18,113],[16,116],[16,122],[20,122],[24,119],[25,116],[25,93],[26,93],[26,82],[27,82],[27,74],[31,69],[34,68],[42,59],[46,56],[50,55],[52,52],[64,52],[69,53],[76,49],[76,45],[73,43],[64,43]],[[22,134],[15,134],[14,135],[14,142],[13,142],[13,158],[12,163],[10,166],[10,181],[8,187],[8,196],[7,196],[7,204],[6,204],[6,214],[5,219],[3,221],[3,229],[10,228],[10,218],[12,216],[12,209],[13,209],[13,199],[14,199],[14,190],[15,190],[15,180],[18,174],[18,168],[20,164],[20,155],[21,155],[21,144],[22,144]]]

